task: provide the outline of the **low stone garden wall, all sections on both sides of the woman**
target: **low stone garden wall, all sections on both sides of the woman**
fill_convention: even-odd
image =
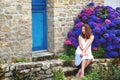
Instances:
[[[95,59],[94,62],[89,66],[89,68],[94,69],[100,66],[108,68],[108,64],[110,62],[112,62],[113,65],[120,67],[120,58],[112,58]],[[74,61],[71,61],[69,63],[69,66],[73,67],[73,64]],[[17,80],[31,80],[23,78],[25,76],[27,76],[27,78],[33,77],[35,78],[35,80],[52,80],[54,74],[53,72],[58,69],[62,69],[64,71],[65,65],[66,61],[60,59],[47,60],[42,62],[3,64],[0,65],[0,80],[2,80],[2,78],[3,80],[15,80],[15,77],[17,77]],[[71,73],[69,72],[68,74],[73,73],[74,70]]]

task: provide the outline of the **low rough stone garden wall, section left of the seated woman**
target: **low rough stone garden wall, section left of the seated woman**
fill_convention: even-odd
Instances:
[[[56,65],[56,66],[52,66],[52,65]],[[2,77],[5,78],[5,80],[6,79],[11,80],[10,78],[12,78],[13,80],[14,77],[16,77],[15,76],[16,74],[21,77],[28,74],[34,75],[35,80],[52,80],[53,72],[54,70],[56,70],[55,67],[62,65],[63,65],[62,61],[56,62],[56,60],[4,64],[0,66],[0,74],[4,73]],[[30,77],[30,75],[28,76]],[[0,75],[0,79],[1,79],[1,75]]]

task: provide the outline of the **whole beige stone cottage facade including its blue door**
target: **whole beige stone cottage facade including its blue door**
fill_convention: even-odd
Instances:
[[[64,51],[73,19],[90,1],[120,5],[119,0],[0,0],[0,63],[48,51]],[[108,3],[109,2],[109,3]]]

